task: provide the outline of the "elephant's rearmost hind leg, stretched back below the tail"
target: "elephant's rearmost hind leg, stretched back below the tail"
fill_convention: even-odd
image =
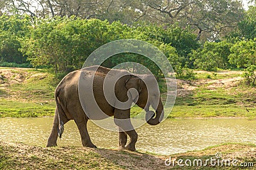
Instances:
[[[58,138],[58,126],[59,126],[59,118],[58,118],[58,111],[55,110],[54,121],[52,125],[52,131],[48,138],[47,147],[57,146],[57,138]]]

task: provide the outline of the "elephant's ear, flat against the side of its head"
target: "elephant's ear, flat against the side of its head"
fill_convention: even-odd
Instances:
[[[135,90],[129,90],[131,97],[132,97],[132,101],[137,101],[139,94],[141,92],[141,79],[137,76],[132,76],[131,78],[129,78],[126,82],[125,82],[125,87],[127,90],[129,89],[136,89],[137,92],[135,92]]]

